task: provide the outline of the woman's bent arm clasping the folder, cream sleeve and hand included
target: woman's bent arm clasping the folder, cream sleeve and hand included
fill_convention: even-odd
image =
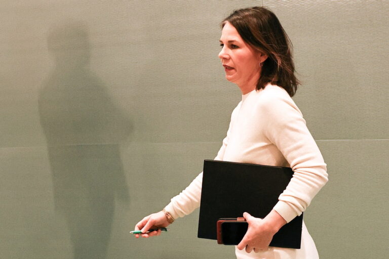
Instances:
[[[328,181],[326,164],[310,135],[301,112],[282,89],[272,90],[260,100],[257,109],[264,136],[277,146],[294,171],[279,202],[262,220],[245,213],[249,229],[238,245],[247,252],[265,249],[274,234],[300,215]]]

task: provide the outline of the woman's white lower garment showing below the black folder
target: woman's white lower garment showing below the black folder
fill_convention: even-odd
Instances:
[[[237,255],[237,259],[319,259],[315,242],[309,235],[304,221],[302,222],[300,249],[269,247],[266,251],[260,251],[258,253],[251,251],[247,253],[245,249],[239,250],[235,246],[235,254]]]

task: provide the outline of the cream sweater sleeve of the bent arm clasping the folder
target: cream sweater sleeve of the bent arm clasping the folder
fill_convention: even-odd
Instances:
[[[294,174],[274,209],[290,222],[328,181],[326,163],[300,110],[284,90],[270,92],[260,105],[264,134],[277,146]]]

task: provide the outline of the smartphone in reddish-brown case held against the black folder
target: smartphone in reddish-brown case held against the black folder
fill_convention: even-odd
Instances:
[[[245,218],[226,218],[217,221],[217,243],[238,245],[245,236],[249,224]]]

